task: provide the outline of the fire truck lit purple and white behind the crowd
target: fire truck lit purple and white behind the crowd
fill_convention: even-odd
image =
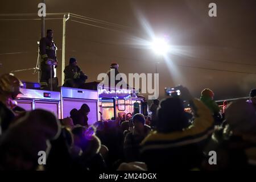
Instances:
[[[87,85],[97,85],[97,83],[91,82]],[[70,111],[74,108],[79,110],[82,104],[90,107],[89,125],[97,121],[122,118],[129,113],[147,114],[147,102],[144,97],[135,93],[134,88],[88,86],[88,89],[79,89],[60,86],[55,91],[49,91],[40,90],[40,84],[37,83],[23,82],[23,85],[20,89],[22,94],[16,99],[18,106],[25,110],[49,110],[59,119],[69,117]]]

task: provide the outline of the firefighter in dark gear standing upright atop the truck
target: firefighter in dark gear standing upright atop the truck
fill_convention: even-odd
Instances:
[[[53,42],[53,31],[47,30],[46,38],[40,40],[39,51],[41,56],[41,78],[40,84],[41,88],[49,87],[49,79],[54,77],[54,69],[58,64],[56,59],[56,44]]]

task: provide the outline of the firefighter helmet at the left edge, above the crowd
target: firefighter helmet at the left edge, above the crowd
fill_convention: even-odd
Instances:
[[[15,98],[21,93],[19,90],[20,86],[23,86],[22,82],[12,73],[0,76],[0,93],[11,94],[11,96]]]

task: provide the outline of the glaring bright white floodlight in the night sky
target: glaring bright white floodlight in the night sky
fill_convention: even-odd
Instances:
[[[170,46],[166,39],[164,38],[155,38],[153,42],[151,43],[151,48],[153,51],[159,55],[165,55],[169,49]]]

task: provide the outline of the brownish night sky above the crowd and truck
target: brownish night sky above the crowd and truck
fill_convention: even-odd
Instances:
[[[1,1],[0,14],[37,14],[41,1]],[[208,5],[217,4],[217,17],[208,16]],[[210,88],[215,99],[245,97],[256,88],[256,1],[126,1],[126,0],[46,0],[47,13],[73,13],[115,23],[97,23],[71,17],[66,27],[66,54],[76,57],[90,81],[105,73],[113,61],[122,73],[155,73],[158,64],[159,92],[164,87],[185,85],[193,96]],[[1,73],[33,68],[38,56],[40,20],[37,16],[0,16]],[[61,62],[63,15],[46,20],[54,31],[57,59]],[[5,19],[5,20],[3,20]],[[88,24],[93,24],[94,27]],[[139,45],[151,37],[167,36],[174,51],[168,60]],[[118,26],[117,26],[118,24]],[[170,63],[167,64],[167,62]],[[168,65],[171,65],[168,67]],[[32,71],[15,74],[22,80],[37,81]],[[61,65],[57,69],[61,76]]]

